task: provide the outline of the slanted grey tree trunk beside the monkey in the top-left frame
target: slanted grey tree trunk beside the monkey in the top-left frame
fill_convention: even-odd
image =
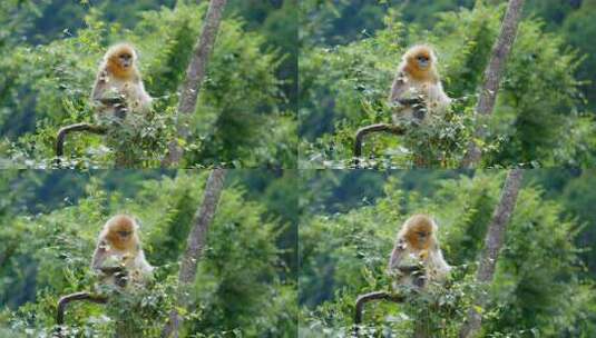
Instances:
[[[211,51],[215,43],[215,37],[219,30],[219,23],[222,22],[222,14],[226,0],[211,0],[205,24],[203,31],[195,47],[193,59],[186,69],[186,79],[184,80],[180,101],[178,102],[178,112],[176,116],[176,131],[177,139],[174,139],[168,145],[168,153],[163,159],[162,166],[169,167],[176,166],[183,156],[183,148],[178,145],[178,139],[186,139],[189,136],[186,121],[186,116],[195,111],[196,101],[198,99],[198,92],[205,78],[207,70],[207,62]]]

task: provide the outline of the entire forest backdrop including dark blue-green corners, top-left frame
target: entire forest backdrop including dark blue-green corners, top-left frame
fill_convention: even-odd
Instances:
[[[156,167],[184,122],[185,167],[292,168],[296,161],[295,1],[231,1],[194,112],[179,89],[208,2],[2,1],[2,167],[56,166],[59,128],[94,122],[91,88],[107,48],[134,44],[153,110],[106,139],[69,136],[60,167]],[[273,131],[273,132],[272,132]],[[135,145],[135,147],[130,147]],[[118,161],[117,161],[118,162]]]

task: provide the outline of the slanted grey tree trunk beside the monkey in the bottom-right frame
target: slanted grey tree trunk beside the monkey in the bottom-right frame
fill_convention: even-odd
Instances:
[[[507,175],[505,186],[501,192],[501,199],[499,205],[492,213],[492,221],[488,228],[487,237],[485,240],[485,250],[480,258],[480,266],[476,274],[476,281],[478,284],[488,284],[492,280],[495,275],[495,266],[499,258],[499,251],[505,241],[505,232],[511,213],[514,212],[517,195],[521,186],[521,179],[524,178],[522,169],[514,169]],[[476,311],[477,307],[483,308],[487,304],[487,297],[483,294],[479,294],[475,300],[475,306],[468,311],[468,319],[462,326],[459,337],[471,338],[480,330],[481,316]]]

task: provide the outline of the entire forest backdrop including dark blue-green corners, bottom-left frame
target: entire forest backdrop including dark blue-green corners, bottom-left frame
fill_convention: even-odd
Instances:
[[[125,212],[140,221],[154,280],[146,288],[108,294],[107,305],[72,302],[61,332],[160,337],[169,311],[180,307],[177,274],[207,173],[4,171],[0,335],[49,337],[59,331],[58,299],[98,290],[90,269],[94,246],[101,225]],[[296,183],[292,172],[235,171],[226,178],[182,312],[183,336],[295,337]]]

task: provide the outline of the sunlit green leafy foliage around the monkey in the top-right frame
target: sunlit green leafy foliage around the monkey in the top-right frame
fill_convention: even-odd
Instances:
[[[312,8],[305,7],[305,16]],[[560,32],[545,32],[537,18],[522,21],[508,59],[494,117],[475,117],[477,90],[490,57],[504,7],[477,1],[473,9],[440,12],[429,30],[407,23],[388,9],[384,28],[345,44],[321,46],[305,28],[301,49],[301,168],[353,166],[360,127],[390,122],[387,93],[401,54],[414,43],[432,44],[450,115],[429,128],[406,126],[407,133],[370,137],[361,167],[452,168],[459,166],[473,126],[487,125],[483,166],[586,166],[594,161],[592,117],[583,111],[583,82],[574,73],[583,58]],[[322,14],[321,14],[322,16]],[[422,159],[422,160],[420,160]]]

